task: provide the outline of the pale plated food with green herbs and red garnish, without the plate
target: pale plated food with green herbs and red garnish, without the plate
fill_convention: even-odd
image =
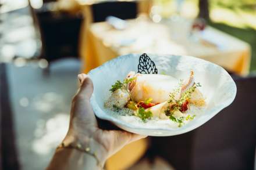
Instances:
[[[104,106],[119,115],[136,116],[142,122],[158,118],[181,127],[195,118],[192,106],[202,108],[206,104],[200,86],[194,80],[194,71],[185,81],[171,75],[130,71],[123,81],[116,81],[109,89],[111,96]]]

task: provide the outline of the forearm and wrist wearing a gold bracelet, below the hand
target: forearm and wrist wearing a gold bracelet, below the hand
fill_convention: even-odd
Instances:
[[[70,130],[56,149],[48,170],[102,169],[107,158],[104,147],[92,138],[74,134]]]

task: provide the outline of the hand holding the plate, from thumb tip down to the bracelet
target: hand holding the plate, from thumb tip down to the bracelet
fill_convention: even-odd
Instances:
[[[63,142],[80,142],[97,155],[101,165],[111,155],[115,154],[123,146],[147,136],[119,130],[104,130],[99,128],[90,97],[93,93],[93,82],[88,75],[79,74],[81,86],[72,100],[70,112],[70,125]]]

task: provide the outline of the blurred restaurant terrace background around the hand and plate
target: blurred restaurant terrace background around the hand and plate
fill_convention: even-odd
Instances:
[[[200,128],[127,146],[106,169],[255,168],[255,0],[1,0],[0,167],[47,167],[77,74],[144,52],[219,64],[237,96]]]

